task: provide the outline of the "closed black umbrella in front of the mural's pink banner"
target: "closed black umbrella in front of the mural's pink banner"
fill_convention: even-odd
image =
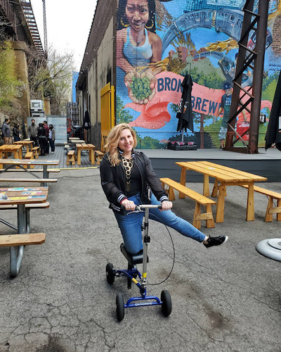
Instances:
[[[188,129],[193,132],[193,118],[192,118],[192,105],[191,105],[191,91],[192,91],[192,78],[189,74],[185,75],[181,86],[183,87],[183,94],[181,96],[181,101],[178,105],[178,113],[176,118],[178,118],[177,131],[182,132]],[[182,134],[183,140],[183,134]]]

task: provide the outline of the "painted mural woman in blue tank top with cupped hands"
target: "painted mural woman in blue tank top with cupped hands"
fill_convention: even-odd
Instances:
[[[124,83],[130,99],[138,104],[148,103],[155,96],[156,72],[152,74],[150,68],[142,73],[136,70],[136,67],[147,67],[161,60],[162,41],[150,32],[155,27],[154,13],[154,0],[119,0],[117,16],[124,28],[117,30],[117,66],[125,72]],[[143,100],[137,99],[131,91],[131,83],[139,77],[150,80],[151,94]]]

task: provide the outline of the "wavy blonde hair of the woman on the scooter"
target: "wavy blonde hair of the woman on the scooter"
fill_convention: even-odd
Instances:
[[[118,144],[120,139],[120,134],[123,130],[130,130],[133,136],[133,148],[136,147],[137,140],[136,140],[136,132],[126,123],[119,123],[112,128],[110,133],[107,136],[107,143],[105,144],[105,149],[107,151],[107,156],[112,166],[119,165],[119,151],[118,151]]]

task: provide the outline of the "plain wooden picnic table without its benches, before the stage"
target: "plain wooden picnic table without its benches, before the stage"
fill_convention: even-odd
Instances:
[[[204,175],[203,195],[209,196],[209,177],[214,177],[215,183],[211,196],[218,196],[216,203],[216,222],[224,220],[224,203],[227,186],[248,185],[247,196],[247,221],[254,220],[254,183],[264,182],[266,177],[254,175],[249,172],[228,168],[223,165],[211,163],[209,161],[189,161],[178,162],[176,165],[181,167],[181,184],[185,186],[186,170],[193,170]],[[220,184],[218,184],[218,182]],[[179,194],[180,198],[184,198]]]

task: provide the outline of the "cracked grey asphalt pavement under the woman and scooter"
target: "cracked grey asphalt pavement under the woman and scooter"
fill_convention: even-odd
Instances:
[[[105,278],[108,261],[125,268],[126,260],[99,169],[63,170],[58,179],[49,188],[50,208],[30,212],[31,232],[46,232],[46,243],[25,246],[18,277],[9,276],[9,249],[0,249],[0,352],[280,352],[280,262],[255,249],[281,237],[275,215],[263,222],[266,196],[255,194],[256,220],[246,222],[247,191],[228,187],[225,222],[214,229],[202,222],[205,234],[228,235],[223,246],[206,249],[170,229],[174,270],[148,294],[169,290],[171,315],[164,318],[159,306],[128,308],[117,322],[117,293],[126,300],[138,290],[128,290],[124,278],[110,287]],[[202,184],[189,187],[202,192]],[[265,187],[280,191],[279,183]],[[174,211],[192,222],[194,201],[175,194]],[[17,223],[13,210],[1,218]],[[0,231],[15,233],[3,224]],[[158,283],[169,275],[173,249],[163,225],[150,222],[150,236],[148,283]]]

